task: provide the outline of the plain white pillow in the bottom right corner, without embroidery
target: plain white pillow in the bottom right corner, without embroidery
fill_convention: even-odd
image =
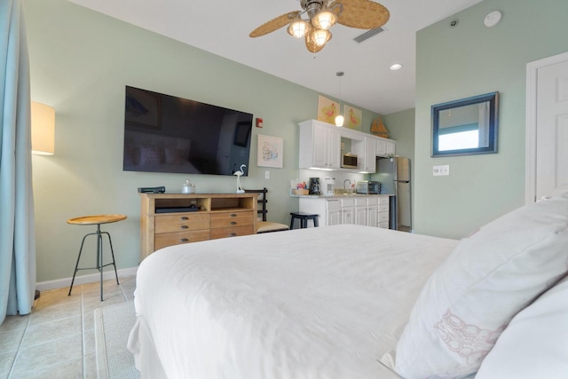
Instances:
[[[476,379],[565,379],[568,376],[568,279],[509,323]]]

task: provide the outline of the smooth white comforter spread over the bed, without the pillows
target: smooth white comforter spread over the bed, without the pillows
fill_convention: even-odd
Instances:
[[[129,348],[143,377],[395,378],[378,359],[456,243],[336,225],[162,249]]]

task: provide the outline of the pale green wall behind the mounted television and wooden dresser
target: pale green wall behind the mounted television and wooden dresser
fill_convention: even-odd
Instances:
[[[83,234],[91,230],[67,225],[70,217],[128,216],[105,229],[114,236],[119,268],[135,267],[138,187],[179,192],[189,178],[200,193],[236,188],[230,177],[122,171],[125,85],[263,118],[264,128],[253,128],[248,177],[241,184],[268,187],[271,220],[288,223],[289,212],[298,207],[288,195],[289,180],[298,178],[297,122],[316,117],[319,93],[66,0],[24,0],[24,7],[32,100],[56,110],[55,155],[33,157],[37,281],[73,274]],[[375,116],[364,110],[364,124]],[[256,167],[258,134],[284,138],[282,169]],[[271,172],[270,179],[264,171]]]

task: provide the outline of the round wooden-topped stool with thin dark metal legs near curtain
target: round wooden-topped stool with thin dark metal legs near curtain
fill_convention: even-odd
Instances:
[[[110,224],[115,223],[118,221],[122,221],[126,219],[124,215],[96,215],[96,216],[83,216],[83,217],[75,217],[69,218],[67,220],[67,224],[71,225],[97,225],[97,232],[94,233],[87,233],[83,237],[83,241],[81,242],[81,249],[79,249],[79,257],[77,257],[77,263],[75,265],[75,272],[73,272],[73,280],[71,280],[71,287],[69,288],[69,293],[67,296],[71,296],[71,290],[73,289],[73,282],[75,281],[75,275],[79,270],[99,270],[100,272],[100,301],[103,301],[103,268],[107,265],[114,266],[114,275],[116,276],[116,284],[120,284],[118,281],[118,272],[116,272],[116,265],[114,263],[114,251],[113,251],[113,242],[110,239],[110,234],[108,232],[101,232],[100,225],[101,224]],[[113,262],[103,265],[103,234],[106,234],[108,237],[108,243],[110,244],[110,254],[113,257]],[[85,243],[85,239],[90,235],[97,236],[97,265],[95,267],[79,267],[79,261],[81,260],[81,253],[83,252],[83,244]]]

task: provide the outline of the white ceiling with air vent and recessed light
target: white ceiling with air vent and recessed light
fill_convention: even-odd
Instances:
[[[297,0],[71,1],[354,106],[390,114],[414,107],[416,31],[481,0],[383,0],[390,11],[385,32],[356,43],[353,38],[366,30],[335,25],[331,41],[316,54],[286,28],[248,37],[268,20],[301,11]],[[390,71],[392,63],[404,67]],[[341,83],[337,71],[345,73]]]

